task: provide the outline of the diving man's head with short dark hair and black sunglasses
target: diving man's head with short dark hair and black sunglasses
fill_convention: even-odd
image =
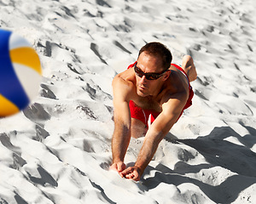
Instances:
[[[137,94],[142,97],[156,95],[169,77],[172,54],[160,42],[149,42],[141,48],[134,70],[137,78]],[[153,74],[153,75],[152,75]]]

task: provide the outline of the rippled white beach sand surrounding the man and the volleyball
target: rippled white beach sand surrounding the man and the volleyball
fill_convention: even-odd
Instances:
[[[40,96],[0,120],[0,203],[256,203],[254,0],[1,0],[0,27],[44,67]],[[140,182],[108,171],[113,77],[145,42],[194,57],[193,105]],[[28,79],[29,80],[29,79]],[[125,162],[143,139],[131,139]]]

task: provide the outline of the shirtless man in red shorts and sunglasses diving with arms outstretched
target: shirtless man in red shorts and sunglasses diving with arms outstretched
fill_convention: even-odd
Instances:
[[[113,164],[122,178],[138,181],[183,110],[192,105],[189,82],[197,73],[193,59],[185,55],[182,66],[171,64],[172,54],[160,42],[149,42],[139,51],[137,62],[113,78]],[[150,116],[150,118],[149,118]],[[151,125],[148,127],[148,118]],[[131,137],[144,136],[133,167],[124,159]]]

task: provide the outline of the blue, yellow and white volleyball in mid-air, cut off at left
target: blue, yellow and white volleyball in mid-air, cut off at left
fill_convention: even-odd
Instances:
[[[37,95],[42,68],[25,38],[0,29],[0,117],[26,108]]]

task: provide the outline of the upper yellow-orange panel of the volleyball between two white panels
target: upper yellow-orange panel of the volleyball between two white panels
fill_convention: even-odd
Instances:
[[[42,75],[40,59],[33,48],[15,48],[9,53],[13,63],[27,65]]]

